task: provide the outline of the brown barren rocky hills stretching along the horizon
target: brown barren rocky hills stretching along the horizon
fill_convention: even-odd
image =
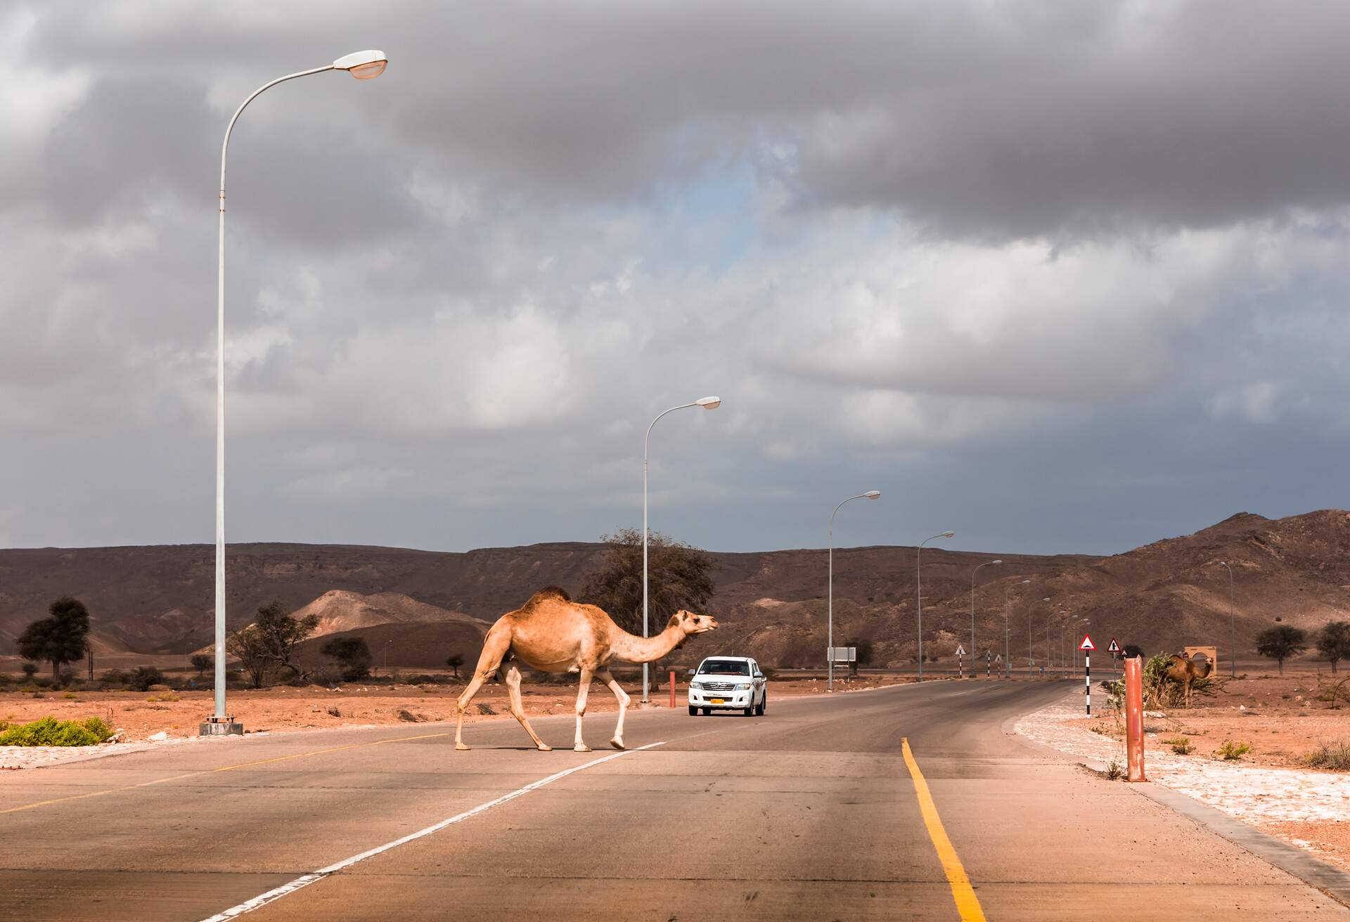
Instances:
[[[601,551],[585,543],[467,553],[231,545],[231,625],[247,624],[256,606],[273,598],[292,609],[319,605],[332,613],[333,629],[455,618],[490,622],[540,586],[578,590]],[[722,630],[684,652],[691,657],[744,652],[782,666],[818,663],[825,647],[825,551],[714,556],[720,571],[709,609]],[[1044,656],[1045,620],[1061,610],[1088,617],[1094,637],[1103,644],[1114,634],[1148,649],[1188,643],[1226,647],[1228,583],[1218,560],[1228,560],[1234,570],[1239,651],[1250,651],[1251,637],[1276,617],[1308,629],[1332,618],[1350,620],[1350,514],[1323,510],[1268,520],[1242,513],[1195,535],[1111,558],[925,548],[925,653],[950,659],[957,643],[969,647],[971,574],[994,558],[1004,563],[981,570],[975,593],[976,647],[983,652],[1002,643],[1007,598],[1011,649],[1022,663],[1029,640],[1035,656]],[[913,547],[837,549],[836,643],[867,639],[878,663],[913,661],[914,564]],[[1031,582],[1023,586],[1022,579]],[[12,652],[12,636],[62,593],[89,605],[104,649],[194,649],[211,637],[212,591],[209,545],[0,551],[0,653]],[[1044,597],[1052,602],[1041,602]],[[418,617],[428,612],[420,605],[441,614]],[[1052,629],[1056,653],[1057,625]],[[413,648],[412,641],[406,645]]]

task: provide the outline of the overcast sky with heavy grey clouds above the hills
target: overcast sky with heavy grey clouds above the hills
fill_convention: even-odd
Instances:
[[[1345,508],[1350,5],[9,3],[0,545]]]

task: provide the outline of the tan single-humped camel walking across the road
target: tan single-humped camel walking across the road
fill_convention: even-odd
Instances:
[[[518,659],[541,672],[580,674],[580,688],[576,691],[576,741],[572,745],[576,752],[590,752],[590,747],[582,741],[582,717],[586,714],[586,694],[590,691],[591,676],[608,684],[618,699],[618,724],[609,744],[622,749],[628,694],[609,671],[610,660],[651,663],[683,647],[691,636],[716,628],[717,620],[711,616],[682,609],[671,616],[662,633],[655,637],[634,637],[594,605],[572,602],[571,597],[558,586],[541,589],[520,609],[508,612],[489,628],[483,639],[483,652],[474,668],[474,678],[455,703],[455,748],[468,749],[462,736],[464,709],[483,682],[493,672],[500,672],[510,691],[512,717],[520,721],[540,752],[552,749],[539,738],[525,720],[525,709],[520,701],[520,667],[513,661]]]

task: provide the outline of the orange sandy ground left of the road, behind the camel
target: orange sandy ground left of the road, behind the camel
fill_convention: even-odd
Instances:
[[[836,682],[840,691],[860,691],[880,684],[909,682],[899,676],[867,676],[853,682]],[[625,683],[636,699],[640,688]],[[246,733],[328,729],[338,726],[370,726],[418,724],[455,720],[455,699],[463,693],[456,684],[344,684],[339,691],[319,686],[304,688],[265,688],[261,691],[231,691],[230,710],[244,725]],[[686,686],[676,691],[676,706],[684,707]],[[529,715],[571,714],[576,706],[576,684],[526,684],[521,690]],[[806,695],[825,691],[819,679],[775,679],[770,682],[770,695]],[[670,706],[670,693],[652,694],[657,707]],[[506,715],[509,710],[506,686],[483,686],[470,705],[470,721]],[[591,684],[587,713],[613,711],[614,695],[601,684]],[[109,726],[120,729],[120,741],[138,744],[151,736],[166,733],[169,740],[196,737],[197,725],[211,713],[211,691],[43,691],[0,693],[0,720],[26,724],[51,714],[58,720],[101,717]],[[66,757],[74,753],[54,753]],[[61,759],[65,761],[66,759]],[[20,747],[0,747],[0,768],[49,764],[50,760]]]

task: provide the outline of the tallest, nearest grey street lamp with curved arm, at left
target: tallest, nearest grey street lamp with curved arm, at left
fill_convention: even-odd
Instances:
[[[323,67],[277,77],[255,89],[225,126],[225,140],[220,146],[220,262],[216,273],[216,713],[201,725],[202,736],[244,732],[243,725],[225,713],[225,157],[230,153],[230,132],[244,108],[277,84],[327,70],[346,70],[356,80],[370,80],[385,73],[387,63],[383,51],[356,51]]]

